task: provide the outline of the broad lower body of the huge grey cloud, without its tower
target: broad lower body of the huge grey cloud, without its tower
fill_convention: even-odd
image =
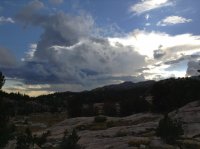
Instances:
[[[98,85],[132,76],[144,64],[144,56],[128,47],[112,47],[105,39],[88,39],[73,46],[55,45],[44,50],[48,50],[46,58],[37,55],[32,61],[25,61],[21,68],[18,77],[26,83],[90,85],[96,82]]]

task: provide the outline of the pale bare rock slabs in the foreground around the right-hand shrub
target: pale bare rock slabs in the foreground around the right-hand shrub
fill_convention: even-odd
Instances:
[[[184,135],[182,136],[183,140],[179,142],[181,147],[199,147],[199,102],[189,103],[171,112],[169,115],[183,122]],[[65,130],[70,131],[73,128],[83,128],[83,130],[78,131],[78,135],[81,137],[79,144],[86,149],[178,149],[179,147],[165,144],[160,138],[155,137],[155,129],[162,117],[160,114],[152,113],[134,114],[123,118],[107,117],[107,123],[112,122],[114,125],[103,127],[102,129],[97,127],[97,130],[90,130],[88,127],[94,124],[94,117],[66,119],[48,129],[51,131],[49,140],[61,140]],[[187,139],[190,139],[190,141]],[[134,141],[131,143],[131,140]]]

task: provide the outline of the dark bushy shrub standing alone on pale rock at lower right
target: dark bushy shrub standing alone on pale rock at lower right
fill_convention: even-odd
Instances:
[[[184,131],[182,123],[178,120],[172,120],[168,115],[165,115],[160,120],[158,128],[156,130],[157,136],[161,137],[166,143],[174,144],[176,139],[180,135],[183,135]]]

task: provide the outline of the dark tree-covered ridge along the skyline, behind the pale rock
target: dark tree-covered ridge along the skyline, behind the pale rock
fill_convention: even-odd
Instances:
[[[141,112],[144,109],[164,113],[180,108],[189,102],[200,100],[199,88],[199,77],[190,77],[169,78],[157,82],[123,82],[90,91],[57,92],[38,97],[0,91],[0,105],[7,105],[6,110],[11,111],[12,114],[68,111],[71,117],[85,116],[82,114],[85,110],[82,107],[87,105],[91,108],[91,105],[95,103],[105,103],[108,107],[119,103],[124,110],[121,112],[122,116]],[[148,96],[153,97],[153,106],[146,103],[145,99]],[[90,114],[93,113],[90,112]]]

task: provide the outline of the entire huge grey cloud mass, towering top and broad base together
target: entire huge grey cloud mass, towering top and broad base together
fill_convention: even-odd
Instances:
[[[43,28],[40,40],[32,44],[20,67],[6,70],[8,77],[25,84],[74,84],[84,88],[126,80],[144,80],[136,70],[145,65],[145,56],[132,47],[112,45],[98,34],[92,16],[32,13],[22,23]]]

